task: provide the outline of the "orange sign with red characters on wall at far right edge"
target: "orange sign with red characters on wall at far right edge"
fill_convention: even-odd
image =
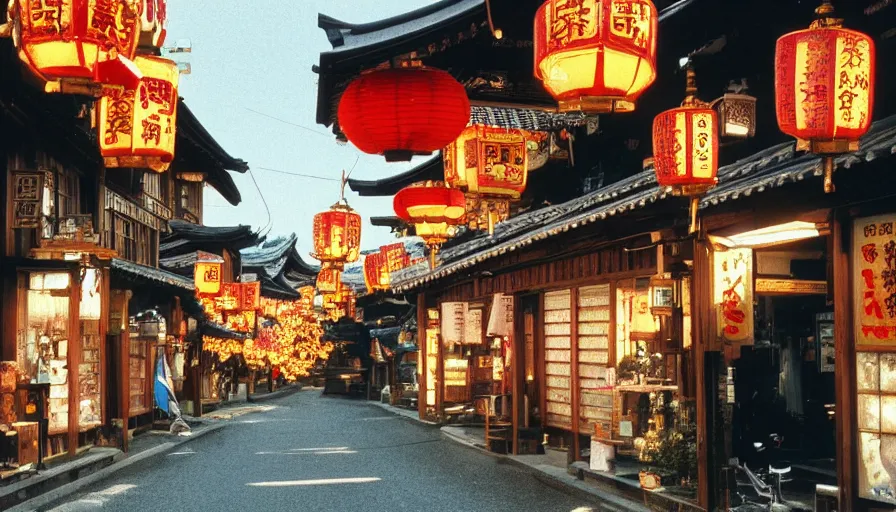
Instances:
[[[896,346],[896,215],[853,226],[856,344]]]

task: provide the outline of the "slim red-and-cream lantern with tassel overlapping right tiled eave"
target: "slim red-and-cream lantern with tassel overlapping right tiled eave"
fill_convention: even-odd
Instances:
[[[697,229],[699,196],[718,182],[719,119],[710,105],[698,100],[694,70],[687,68],[687,97],[679,108],[653,120],[656,181],[673,194],[691,198],[691,232]]]

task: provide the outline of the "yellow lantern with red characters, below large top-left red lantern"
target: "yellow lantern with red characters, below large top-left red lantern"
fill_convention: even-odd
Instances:
[[[139,55],[143,74],[136,89],[107,90],[98,102],[100,154],[106,167],[165,172],[174,160],[177,86],[174,61]]]

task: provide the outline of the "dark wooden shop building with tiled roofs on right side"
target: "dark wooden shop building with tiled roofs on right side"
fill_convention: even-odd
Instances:
[[[322,16],[333,50],[317,68],[318,122],[340,136],[340,92],[361,71],[410,54],[452,73],[475,107],[553,110],[531,71],[541,3],[444,0],[363,25]],[[858,151],[836,158],[836,192],[825,194],[821,158],[797,152],[774,120],[775,41],[807,26],[817,5],[654,3],[658,76],[637,110],[569,126],[567,163],[544,182],[535,171],[528,203],[494,235],[467,232],[443,247],[437,268],[393,276],[392,291],[417,300],[420,415],[475,411],[507,422],[500,430],[514,453],[547,435],[570,460],[590,446],[592,467],[645,460],[664,423],[693,429],[693,475],[678,470],[693,485],[665,482],[681,488],[643,497],[704,510],[732,505],[730,458],[753,464],[753,443],[781,430],[801,461],[792,477],[833,484],[838,510],[892,506],[893,433],[883,418],[896,409],[882,379],[896,313],[884,305],[893,290],[880,258],[896,247],[896,218],[888,188],[876,186],[892,182],[896,153],[892,69],[878,68],[876,122]],[[836,7],[846,26],[875,39],[879,63],[892,60],[892,6]],[[734,82],[758,100],[756,136],[723,141],[719,185],[702,198],[693,235],[687,202],[661,189],[646,161],[654,116],[683,97],[679,60],[689,55],[704,99]],[[438,177],[436,158],[351,185],[390,195]],[[509,329],[486,326],[495,310],[512,311]],[[638,470],[623,474],[617,462],[616,473],[595,473],[633,477],[637,488]],[[815,498],[794,492],[802,504]]]

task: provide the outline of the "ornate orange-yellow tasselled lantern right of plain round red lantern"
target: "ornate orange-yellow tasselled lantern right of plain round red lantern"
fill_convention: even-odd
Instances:
[[[472,125],[442,150],[445,183],[466,194],[472,227],[487,225],[494,233],[495,223],[507,219],[510,201],[526,190],[529,138],[523,130]]]

